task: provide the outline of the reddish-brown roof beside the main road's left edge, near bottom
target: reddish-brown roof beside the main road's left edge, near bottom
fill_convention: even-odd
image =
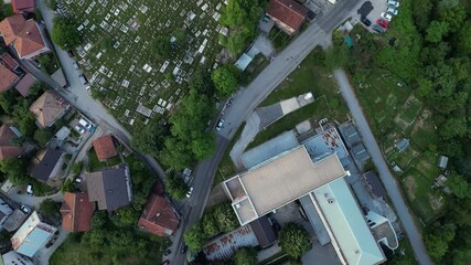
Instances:
[[[165,198],[152,193],[142,211],[138,226],[150,233],[164,236],[173,234],[179,222],[170,202]]]

